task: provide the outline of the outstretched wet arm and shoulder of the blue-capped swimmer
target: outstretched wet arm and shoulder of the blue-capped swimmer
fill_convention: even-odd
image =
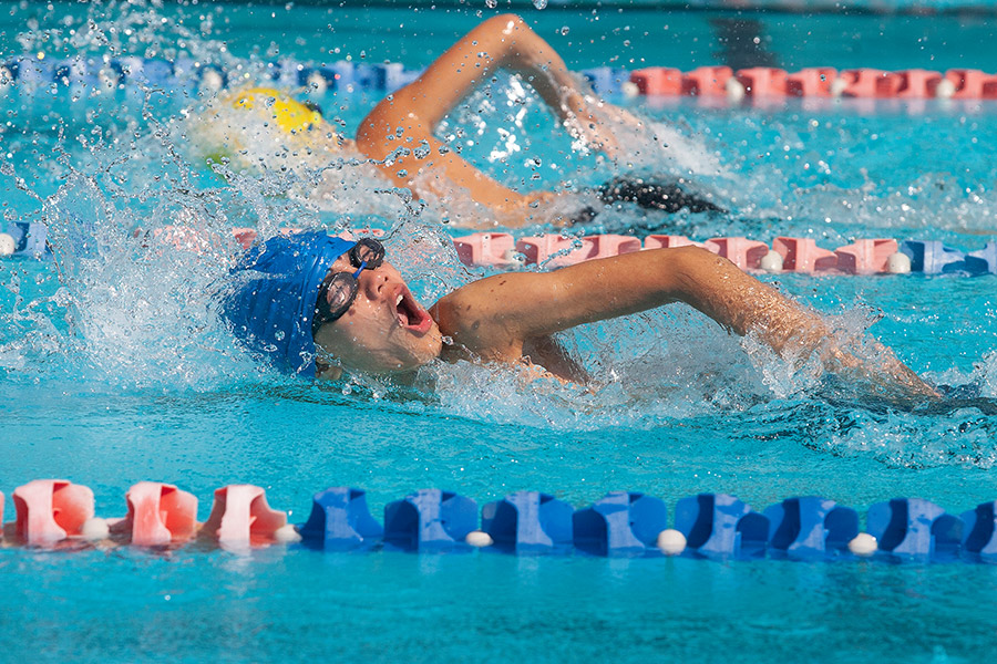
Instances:
[[[907,395],[936,393],[892,353],[882,365],[841,350],[823,320],[724,258],[682,247],[590,260],[549,273],[498,274],[435,307],[443,334],[485,357],[512,359],[524,341],[685,302],[737,334],[753,332],[782,356],[818,352],[829,370],[887,378]]]

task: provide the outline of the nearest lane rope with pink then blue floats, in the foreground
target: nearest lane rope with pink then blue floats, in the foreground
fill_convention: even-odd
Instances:
[[[549,494],[516,491],[479,512],[471,498],[423,489],[386,505],[378,521],[363,489],[331,487],[314,496],[308,519],[298,525],[251,485],[215,490],[204,523],[196,521],[194,495],[155,481],[129,489],[127,513],[120,519],[96,518],[93,491],[62,479],[20,486],[13,502],[16,520],[3,528],[8,547],[176,548],[201,539],[233,549],[300,542],[328,551],[491,548],[514,554],[997,562],[997,501],[955,516],[928,500],[894,498],[868,508],[864,531],[854,509],[812,496],[758,512],[734,496],[699,494],[676,502],[670,523],[662,500],[637,491],[611,491],[582,509]]]

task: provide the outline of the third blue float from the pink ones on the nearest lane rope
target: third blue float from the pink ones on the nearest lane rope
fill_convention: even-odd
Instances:
[[[574,513],[575,508],[549,494],[516,491],[482,508],[481,529],[501,550],[567,552],[574,541]]]

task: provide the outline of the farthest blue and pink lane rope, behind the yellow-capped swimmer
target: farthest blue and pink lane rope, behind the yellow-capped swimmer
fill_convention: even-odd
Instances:
[[[189,58],[48,58],[24,54],[0,62],[0,91],[14,84],[32,90],[91,89],[113,91],[129,86],[219,91],[270,81],[287,87],[326,92],[392,92],[414,81],[421,69],[401,63],[338,61],[331,64],[279,60],[223,66]],[[726,65],[639,70],[599,66],[582,70],[595,91],[604,95],[699,96],[738,103],[743,100],[790,97],[954,98],[997,100],[997,74],[976,69],[945,72],[923,69],[884,71],[831,66],[789,72],[778,68],[733,70]]]

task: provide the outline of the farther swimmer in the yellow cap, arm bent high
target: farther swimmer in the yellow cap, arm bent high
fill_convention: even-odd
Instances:
[[[634,133],[643,123],[627,111],[595,96],[587,83],[576,79],[561,56],[518,17],[497,15],[485,20],[435,60],[418,80],[388,95],[357,128],[356,142],[342,136],[318,110],[286,94],[265,87],[235,93],[226,103],[236,108],[266,108],[285,136],[278,141],[292,159],[315,160],[318,146],[340,156],[359,153],[376,165],[381,177],[407,188],[415,197],[439,201],[455,226],[469,228],[522,227],[543,221],[587,221],[596,210],[553,191],[513,190],[463,159],[435,137],[443,118],[498,70],[518,74],[578,141],[616,159],[621,148],[618,133]],[[216,115],[215,117],[222,117]],[[244,127],[232,126],[222,134],[215,153],[245,152]],[[266,123],[264,123],[266,124]],[[273,127],[271,127],[273,128]],[[290,134],[288,136],[287,134]],[[210,139],[208,139],[210,142]],[[260,153],[267,146],[259,145]],[[273,151],[269,151],[273,152]],[[260,159],[269,158],[268,156]],[[284,165],[281,165],[284,166]],[[286,166],[285,166],[286,167]],[[294,164],[291,165],[294,167]],[[616,178],[594,191],[594,205],[634,203],[647,209],[675,212],[723,211],[703,196],[689,190],[683,180]],[[476,214],[463,214],[461,199],[473,201]],[[453,204],[458,205],[454,206]],[[551,209],[575,209],[547,214]],[[580,207],[580,209],[579,209]]]

